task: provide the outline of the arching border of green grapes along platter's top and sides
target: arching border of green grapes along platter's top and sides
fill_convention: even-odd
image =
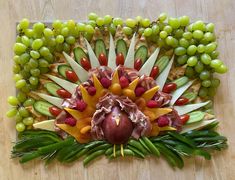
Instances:
[[[70,52],[71,45],[80,34],[91,40],[95,27],[108,28],[114,35],[118,26],[123,27],[127,36],[131,37],[136,32],[161,48],[174,49],[177,65],[187,64],[185,75],[201,79],[199,96],[214,96],[220,81],[213,77],[213,73],[225,73],[227,67],[218,59],[218,44],[212,23],[190,23],[188,16],[171,18],[166,13],[160,14],[155,21],[140,16],[124,21],[110,15],[98,17],[90,13],[87,22],[55,20],[51,27],[41,22],[30,24],[28,19],[22,19],[17,26],[18,35],[13,47],[13,79],[18,93],[16,97],[8,98],[12,108],[7,112],[7,117],[15,118],[17,131],[32,128],[34,117],[29,107],[35,100],[27,94],[38,88],[39,76],[50,71],[54,53]]]

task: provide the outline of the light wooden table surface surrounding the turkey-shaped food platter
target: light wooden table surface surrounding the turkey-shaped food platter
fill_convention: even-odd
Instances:
[[[0,179],[235,179],[234,9],[234,0],[0,0]],[[215,153],[211,161],[186,159],[183,170],[173,170],[164,160],[154,158],[111,163],[102,158],[87,168],[80,162],[73,165],[53,163],[45,167],[39,161],[20,165],[17,160],[10,159],[15,130],[13,120],[7,119],[5,112],[7,97],[15,93],[11,69],[16,21],[23,17],[35,21],[84,20],[91,11],[100,16],[110,14],[127,18],[141,15],[151,19],[160,12],[167,12],[170,16],[188,15],[193,20],[215,23],[220,58],[230,68],[220,77],[222,85],[215,98],[217,118],[221,120],[219,131],[229,139],[227,150]]]

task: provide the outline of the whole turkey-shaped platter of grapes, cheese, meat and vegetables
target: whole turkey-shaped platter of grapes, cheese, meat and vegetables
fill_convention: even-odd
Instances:
[[[86,166],[150,156],[173,168],[210,160],[227,147],[213,112],[228,70],[217,47],[214,24],[188,16],[22,19],[6,113],[18,132],[12,158]]]

